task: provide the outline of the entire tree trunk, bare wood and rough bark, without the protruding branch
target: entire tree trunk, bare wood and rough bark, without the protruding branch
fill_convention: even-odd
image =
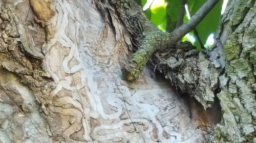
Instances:
[[[174,86],[150,66],[136,82],[123,80],[121,68],[143,31],[132,21],[127,27],[119,1],[100,2],[0,1],[0,142],[204,142],[207,133],[214,142],[252,142],[255,1],[231,2],[209,57],[179,50],[201,60],[199,84],[184,80],[191,67],[174,74],[162,68],[166,56],[154,55],[151,64]],[[135,3],[124,6],[138,10]],[[204,79],[198,71],[207,68]],[[197,101],[184,96],[197,86]],[[219,101],[222,121],[205,132],[219,121]]]

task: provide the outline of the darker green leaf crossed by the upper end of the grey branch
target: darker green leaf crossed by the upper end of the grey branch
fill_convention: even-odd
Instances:
[[[193,16],[206,1],[188,0],[187,2],[190,14]],[[219,2],[196,27],[203,44],[205,44],[208,36],[217,30],[221,16],[221,6],[222,2]],[[197,48],[200,47],[198,40],[196,40],[195,46],[197,46]]]

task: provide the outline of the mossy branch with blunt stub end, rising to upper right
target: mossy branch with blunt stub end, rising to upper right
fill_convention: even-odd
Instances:
[[[180,38],[193,30],[218,2],[219,0],[208,0],[187,23],[170,34],[158,30],[145,31],[145,38],[142,40],[139,49],[134,53],[129,64],[122,68],[126,80],[135,81],[156,50],[175,45]]]

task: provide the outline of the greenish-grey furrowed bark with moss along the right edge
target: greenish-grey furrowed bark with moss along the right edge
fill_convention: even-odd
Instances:
[[[226,55],[225,73],[219,77],[222,122],[214,142],[256,141],[255,1],[233,1],[224,14],[217,39]]]

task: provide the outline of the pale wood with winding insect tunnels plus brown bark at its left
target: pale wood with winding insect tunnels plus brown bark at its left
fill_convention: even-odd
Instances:
[[[94,1],[96,2],[96,1]],[[91,1],[0,1],[0,142],[202,142],[202,108],[145,70],[131,32]],[[103,5],[108,7],[109,5]]]

